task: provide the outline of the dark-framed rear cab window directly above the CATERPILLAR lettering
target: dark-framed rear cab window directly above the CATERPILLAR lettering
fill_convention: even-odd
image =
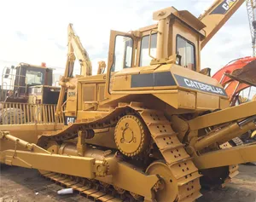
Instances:
[[[181,66],[195,70],[195,44],[177,35],[177,55],[181,55]]]

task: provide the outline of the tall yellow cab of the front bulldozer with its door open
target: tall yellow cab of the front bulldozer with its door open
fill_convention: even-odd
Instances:
[[[147,26],[135,32],[111,31],[106,95],[114,90],[113,75],[154,72],[163,64],[175,64],[200,72],[200,43],[205,27],[189,11],[167,8],[153,14],[157,25]],[[134,68],[131,70],[131,68]],[[117,74],[118,75],[118,74]],[[149,79],[146,78],[145,79]],[[141,79],[140,79],[141,80]],[[141,83],[147,83],[145,80]],[[146,87],[147,84],[141,84]]]

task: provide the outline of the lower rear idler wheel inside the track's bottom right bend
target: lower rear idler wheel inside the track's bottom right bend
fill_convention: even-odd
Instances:
[[[157,202],[176,201],[178,193],[177,180],[172,175],[167,164],[156,161],[148,166],[148,175],[158,175],[161,177],[160,183],[154,186],[155,199]]]

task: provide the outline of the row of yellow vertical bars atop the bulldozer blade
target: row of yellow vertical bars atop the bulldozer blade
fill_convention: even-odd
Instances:
[[[56,105],[0,102],[0,124],[62,124],[61,113],[55,120]]]

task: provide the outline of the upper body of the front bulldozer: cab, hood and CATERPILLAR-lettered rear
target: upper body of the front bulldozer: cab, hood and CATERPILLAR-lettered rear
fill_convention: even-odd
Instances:
[[[222,86],[199,73],[205,25],[172,7],[154,12],[153,19],[158,24],[137,31],[111,31],[106,74],[70,80],[74,87],[67,90],[66,117],[102,113],[137,96],[164,101],[172,113],[228,106]]]

